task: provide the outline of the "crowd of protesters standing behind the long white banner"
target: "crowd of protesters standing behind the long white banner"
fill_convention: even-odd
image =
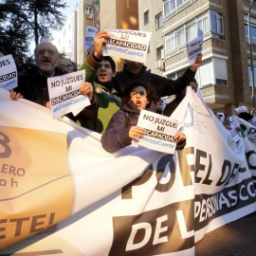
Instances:
[[[197,92],[198,84],[194,76],[196,69],[202,64],[202,55],[177,80],[148,72],[144,64],[128,60],[125,60],[123,70],[117,72],[114,60],[110,56],[102,56],[105,39],[108,37],[106,31],[101,31],[94,37],[94,50],[80,67],[80,70],[85,69],[86,74],[80,93],[88,97],[90,105],[77,116],[72,113],[65,116],[84,128],[101,133],[102,147],[108,152],[115,152],[130,145],[132,139],[143,137],[144,129],[137,126],[141,109],[170,117],[184,99],[187,86]],[[5,55],[4,49],[0,49],[0,57]],[[34,66],[18,74],[18,86],[10,91],[10,98],[23,98],[50,109],[47,78],[76,72],[77,64],[64,56],[60,57],[57,47],[50,42],[38,44],[34,50],[34,58]],[[166,104],[162,98],[171,95],[175,95],[174,101]],[[236,111],[238,118],[256,126],[255,110],[248,113],[246,107],[240,107]],[[243,133],[225,113],[215,115],[228,131]],[[183,143],[177,149],[184,147],[186,136],[177,132],[175,138],[177,144]]]

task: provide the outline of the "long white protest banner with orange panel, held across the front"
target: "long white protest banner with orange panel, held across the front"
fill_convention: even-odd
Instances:
[[[255,127],[238,119],[234,145],[192,90],[172,118],[184,150],[111,155],[101,135],[1,91],[0,255],[193,255],[207,232],[255,211]]]

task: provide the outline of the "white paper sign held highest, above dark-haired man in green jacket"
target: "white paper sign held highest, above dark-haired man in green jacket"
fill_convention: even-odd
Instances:
[[[106,30],[110,35],[107,38],[106,46],[103,49],[103,55],[119,57],[138,63],[145,63],[151,32],[109,29]]]

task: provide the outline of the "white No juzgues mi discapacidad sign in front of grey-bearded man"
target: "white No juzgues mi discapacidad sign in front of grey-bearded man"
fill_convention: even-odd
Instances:
[[[75,113],[76,110],[82,110],[90,104],[88,97],[81,95],[79,91],[84,80],[85,70],[47,80],[53,119],[58,119],[69,112]]]

